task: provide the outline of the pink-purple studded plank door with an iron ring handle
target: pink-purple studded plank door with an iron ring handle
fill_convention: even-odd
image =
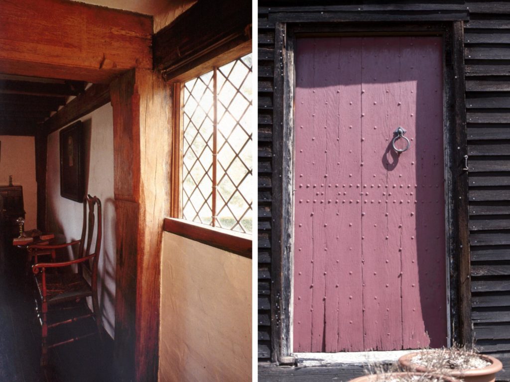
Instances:
[[[294,351],[445,345],[441,38],[303,38],[295,63]]]

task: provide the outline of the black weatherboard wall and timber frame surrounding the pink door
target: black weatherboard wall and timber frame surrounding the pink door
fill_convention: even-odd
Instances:
[[[352,25],[355,30],[356,25],[368,22],[398,31],[397,25],[420,20],[425,25],[448,23],[455,32],[452,54],[462,58],[454,67],[457,81],[452,89],[445,89],[455,98],[454,141],[465,148],[458,155],[452,153],[456,168],[450,169],[460,177],[455,185],[460,189],[457,197],[464,197],[454,202],[455,235],[458,243],[469,242],[453,259],[458,271],[451,279],[456,280],[451,288],[458,293],[457,324],[464,328],[460,340],[469,342],[472,336],[481,351],[503,362],[504,370],[497,379],[510,380],[510,1],[310,4],[284,0],[259,4],[259,296],[266,297],[260,300],[258,316],[259,380],[348,380],[356,375],[350,367],[344,371],[267,367],[270,361],[277,361],[274,351],[282,346],[282,296],[281,290],[274,289],[281,287],[285,277],[280,241],[284,174],[283,163],[276,159],[283,156],[284,147],[277,144],[277,138],[283,133],[279,123],[285,105],[274,96],[283,85],[275,77],[275,65],[281,60],[285,39],[275,31],[311,23],[321,25],[324,31],[328,26],[334,31],[339,24]],[[462,173],[458,169],[465,154],[469,155],[469,171]],[[280,275],[279,279],[274,275]]]

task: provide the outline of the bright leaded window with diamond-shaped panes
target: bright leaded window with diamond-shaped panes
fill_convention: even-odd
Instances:
[[[251,54],[184,84],[183,219],[252,230]]]

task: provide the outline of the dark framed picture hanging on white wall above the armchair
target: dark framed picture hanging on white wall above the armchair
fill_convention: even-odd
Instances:
[[[60,130],[60,195],[83,202],[85,195],[83,123]]]

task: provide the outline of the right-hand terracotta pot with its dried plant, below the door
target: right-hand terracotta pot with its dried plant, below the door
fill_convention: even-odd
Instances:
[[[466,382],[494,382],[503,367],[496,358],[456,347],[409,353],[398,363],[405,370],[448,375]]]

